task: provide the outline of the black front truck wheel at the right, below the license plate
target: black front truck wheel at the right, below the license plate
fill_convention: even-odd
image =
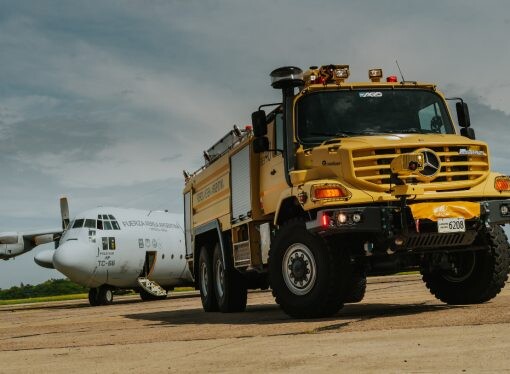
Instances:
[[[505,232],[501,226],[493,225],[480,235],[486,236],[489,250],[448,254],[447,269],[444,265],[431,267],[428,262],[422,266],[423,281],[439,300],[447,304],[484,303],[505,286],[510,266],[510,247]]]

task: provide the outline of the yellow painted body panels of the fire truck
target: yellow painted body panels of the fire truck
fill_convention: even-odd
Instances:
[[[426,83],[339,82],[326,86],[309,85],[294,98],[296,103],[303,95],[313,91],[341,89],[423,89],[442,97],[435,85]],[[296,114],[294,113],[294,116]],[[296,118],[293,118],[295,126]],[[270,148],[275,145],[273,128],[268,127]],[[294,134],[296,133],[294,128]],[[247,136],[223,156],[194,173],[187,181],[184,192],[192,191],[193,227],[219,219],[221,229],[229,230],[230,212],[230,157],[245,146],[250,146],[253,136]],[[304,211],[335,206],[387,204],[397,202],[395,186],[389,183],[391,160],[403,153],[430,150],[437,154],[442,171],[430,179],[417,180],[404,176],[407,186],[400,188],[412,195],[409,204],[418,218],[437,220],[437,211],[445,210],[451,217],[479,216],[475,201],[487,198],[510,198],[510,192],[494,188],[494,178],[500,174],[490,171],[489,149],[479,140],[471,140],[454,134],[386,134],[331,139],[319,146],[305,149],[296,144],[295,170],[285,178],[282,154],[264,152],[251,157],[252,216],[250,221],[276,221],[282,202],[298,200]],[[464,152],[464,153],[463,153]],[[405,179],[407,178],[407,179]],[[340,184],[349,191],[348,198],[314,200],[313,186],[317,184]],[[221,188],[220,188],[221,187]],[[397,188],[398,192],[398,188]],[[302,197],[306,196],[306,199]],[[435,203],[455,201],[455,203]],[[471,203],[472,201],[473,203]]]

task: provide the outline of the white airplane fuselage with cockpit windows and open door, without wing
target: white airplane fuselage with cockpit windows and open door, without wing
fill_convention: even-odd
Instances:
[[[165,289],[190,284],[181,218],[167,212],[95,208],[64,231],[53,265],[73,282],[137,288],[148,278]]]

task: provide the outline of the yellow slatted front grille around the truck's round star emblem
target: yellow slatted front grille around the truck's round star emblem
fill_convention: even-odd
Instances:
[[[358,149],[351,153],[354,182],[373,190],[389,190],[391,161],[400,154],[416,152],[419,149],[432,150],[441,162],[438,174],[431,181],[423,182],[413,177],[406,179],[406,183],[424,184],[425,190],[469,188],[479,183],[489,173],[487,149],[482,146],[476,146],[476,151],[481,150],[483,154],[466,154],[475,150],[469,145]]]

